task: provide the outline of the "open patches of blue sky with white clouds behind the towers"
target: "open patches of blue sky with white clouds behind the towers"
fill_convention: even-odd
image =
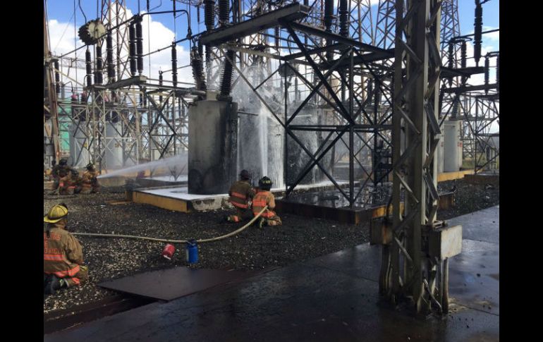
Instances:
[[[97,1],[96,0],[46,0],[47,1],[47,14],[49,19],[49,36],[51,50],[54,54],[60,55],[68,51],[72,51],[75,47],[83,45],[76,39],[74,42],[74,31],[85,23],[83,13],[79,8],[79,1],[81,7],[87,16],[87,21],[95,19],[99,16],[97,14]],[[372,0],[375,4],[377,0]],[[98,1],[99,4],[102,1]],[[140,4],[140,11],[146,11],[147,1],[145,0],[126,0],[126,5],[131,13],[138,13],[138,4]],[[161,6],[159,6],[161,5]],[[75,27],[74,27],[74,6],[75,6]],[[159,6],[152,9],[153,7]],[[483,4],[483,30],[489,30],[491,28],[499,28],[499,0],[491,0],[486,4]],[[150,0],[150,8],[152,11],[171,11],[171,0]],[[186,4],[176,3],[177,9],[187,9]],[[374,6],[374,11],[377,11],[377,6]],[[475,0],[458,0],[458,13],[460,18],[460,31],[461,34],[466,35],[473,32],[473,21],[475,13]],[[129,13],[130,14],[130,13]],[[131,15],[131,14],[130,14]],[[374,13],[376,18],[377,13]],[[191,26],[193,34],[202,32],[205,30],[203,24],[203,11],[200,13],[200,20],[202,23],[197,24],[197,14],[194,9],[191,11]],[[185,14],[176,19],[176,39],[182,39],[186,36],[187,17]],[[146,16],[143,20],[144,30],[144,54],[147,51],[155,51],[167,47],[174,40],[173,34],[173,15],[171,13]],[[148,34],[152,39],[148,39]],[[147,45],[149,44],[149,45]],[[492,35],[483,36],[482,56],[489,51],[499,50],[499,32],[494,32]],[[81,50],[80,50],[81,51]],[[468,56],[472,56],[472,45],[468,43]],[[83,52],[81,52],[83,53]],[[189,64],[189,45],[188,42],[181,42],[178,44],[178,66],[187,66]],[[78,56],[81,56],[78,53]],[[164,49],[157,54],[145,58],[145,75],[158,78],[158,72],[167,71],[171,69],[171,54],[169,49]],[[482,60],[484,63],[484,59]],[[494,62],[491,61],[491,66]],[[468,66],[475,66],[473,59],[468,59]],[[71,77],[82,82],[84,78],[84,71],[70,71]],[[491,69],[490,77],[494,79],[495,71]],[[171,80],[170,73],[164,73],[164,80]],[[190,68],[182,68],[178,73],[178,80],[180,82],[193,83],[193,76]],[[468,81],[471,85],[477,85],[484,82],[483,75],[473,75]]]

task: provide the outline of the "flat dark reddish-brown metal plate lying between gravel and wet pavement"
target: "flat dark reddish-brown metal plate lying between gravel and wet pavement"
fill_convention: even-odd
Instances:
[[[149,298],[173,300],[223,283],[240,281],[257,273],[256,271],[175,267],[126,276],[114,281],[104,281],[98,286]]]

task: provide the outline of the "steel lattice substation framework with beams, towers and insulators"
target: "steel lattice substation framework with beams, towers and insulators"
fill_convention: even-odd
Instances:
[[[449,119],[463,120],[463,151],[476,172],[492,168],[499,157],[492,139],[499,133],[490,131],[499,123],[499,51],[480,53],[487,1],[475,1],[476,65],[468,67],[471,35],[460,36],[456,0],[183,0],[171,1],[168,11],[154,11],[147,1],[147,12],[132,18],[126,18],[123,0],[103,0],[106,34],[87,47],[86,59],[52,56],[44,39],[47,144],[61,157],[59,122],[70,122],[80,154],[101,169],[111,168],[112,154],[121,165],[175,155],[190,145],[190,102],[216,93],[228,99],[232,87],[245,83],[284,130],[287,197],[315,169],[350,208],[369,185],[392,179],[392,235],[382,248],[380,292],[393,303],[412,300],[417,312],[447,312],[447,257],[432,254],[428,243],[444,228],[436,221],[434,155]],[[144,75],[141,20],[148,13],[190,18],[194,11],[205,30],[188,30],[164,47],[172,51],[170,71]],[[190,42],[192,85],[177,81],[178,69],[187,67],[177,66],[176,44],[183,41]],[[489,80],[491,61],[495,83]],[[70,68],[84,68],[86,79],[71,78]],[[255,69],[267,75],[255,77]],[[484,85],[468,84],[482,73]],[[83,98],[59,99],[69,82]],[[315,119],[300,121],[300,112]],[[300,140],[307,132],[318,135],[316,147]],[[303,151],[301,169],[290,167],[290,145]],[[78,164],[80,156],[72,157]],[[338,164],[346,165],[346,176],[337,176]]]

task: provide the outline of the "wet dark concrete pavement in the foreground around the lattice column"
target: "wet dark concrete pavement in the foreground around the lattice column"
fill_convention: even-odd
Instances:
[[[460,222],[463,252],[450,262],[444,318],[383,303],[379,246],[365,244],[44,341],[499,341],[499,206],[449,220]]]

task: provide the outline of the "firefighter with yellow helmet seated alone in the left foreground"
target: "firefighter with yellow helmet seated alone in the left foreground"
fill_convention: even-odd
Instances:
[[[44,216],[43,271],[44,293],[53,295],[59,288],[77,286],[88,278],[83,264],[83,248],[66,230],[66,204],[57,204]]]

